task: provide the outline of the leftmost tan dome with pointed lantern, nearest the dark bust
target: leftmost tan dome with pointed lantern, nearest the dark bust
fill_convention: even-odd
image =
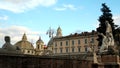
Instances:
[[[21,49],[34,49],[32,43],[27,41],[26,34],[23,35],[22,40],[18,41],[15,46],[18,46]]]

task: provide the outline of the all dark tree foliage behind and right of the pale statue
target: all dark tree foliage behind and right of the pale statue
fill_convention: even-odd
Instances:
[[[113,37],[114,37],[115,41],[120,41],[120,27],[118,27],[118,25],[114,24],[114,22],[113,22],[114,20],[112,19],[111,10],[109,9],[109,7],[107,7],[107,5],[105,3],[103,3],[101,11],[102,11],[102,15],[98,19],[100,24],[99,24],[99,27],[97,28],[97,31],[99,33],[103,33],[104,35],[106,35],[105,21],[108,21],[109,24],[112,27],[112,33],[113,33]],[[101,42],[102,41],[101,35],[98,35],[98,41],[99,41],[98,45],[101,46],[101,44],[102,44],[102,42]]]

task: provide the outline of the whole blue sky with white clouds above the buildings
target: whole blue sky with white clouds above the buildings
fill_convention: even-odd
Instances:
[[[33,44],[39,36],[47,44],[49,27],[56,31],[60,26],[64,36],[96,30],[102,3],[110,7],[115,24],[120,25],[120,0],[0,0],[0,47],[4,36],[15,44],[24,33]]]

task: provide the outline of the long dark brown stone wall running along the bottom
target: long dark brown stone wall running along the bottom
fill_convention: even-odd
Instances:
[[[0,54],[0,68],[91,68],[92,61],[51,56]]]

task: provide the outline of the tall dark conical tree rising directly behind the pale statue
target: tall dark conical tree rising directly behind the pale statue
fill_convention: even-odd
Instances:
[[[115,31],[115,25],[113,23],[111,10],[109,9],[109,7],[107,7],[107,5],[105,3],[103,3],[101,11],[102,11],[102,15],[98,19],[100,24],[99,24],[99,27],[97,28],[97,31],[99,33],[103,33],[104,35],[106,35],[105,21],[108,21],[109,24],[112,27],[113,36],[114,36],[114,34],[115,34],[115,32],[114,32]],[[101,44],[102,44],[102,36],[101,35],[98,35],[98,41],[99,41],[99,46],[101,46]]]

